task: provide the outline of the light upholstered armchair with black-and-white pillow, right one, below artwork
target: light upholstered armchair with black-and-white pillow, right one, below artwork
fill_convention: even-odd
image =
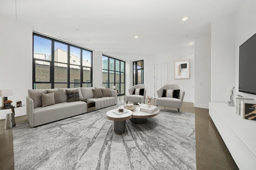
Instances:
[[[156,90],[158,98],[156,99],[156,106],[173,107],[178,109],[182,106],[185,91],[179,84],[166,84]]]

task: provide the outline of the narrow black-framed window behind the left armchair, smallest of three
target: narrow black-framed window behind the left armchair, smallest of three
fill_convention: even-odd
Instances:
[[[144,61],[133,62],[133,85],[144,84]]]

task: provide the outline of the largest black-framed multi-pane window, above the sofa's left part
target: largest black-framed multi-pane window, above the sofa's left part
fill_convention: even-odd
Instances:
[[[92,51],[33,33],[33,89],[92,87]]]

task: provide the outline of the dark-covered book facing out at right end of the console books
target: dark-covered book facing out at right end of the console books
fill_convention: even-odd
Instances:
[[[256,101],[241,101],[241,109],[243,119],[256,120]]]

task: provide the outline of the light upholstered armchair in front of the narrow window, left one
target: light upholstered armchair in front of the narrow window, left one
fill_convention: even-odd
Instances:
[[[136,84],[128,89],[130,95],[126,95],[126,104],[128,102],[133,103],[145,103],[147,85],[146,84]]]

